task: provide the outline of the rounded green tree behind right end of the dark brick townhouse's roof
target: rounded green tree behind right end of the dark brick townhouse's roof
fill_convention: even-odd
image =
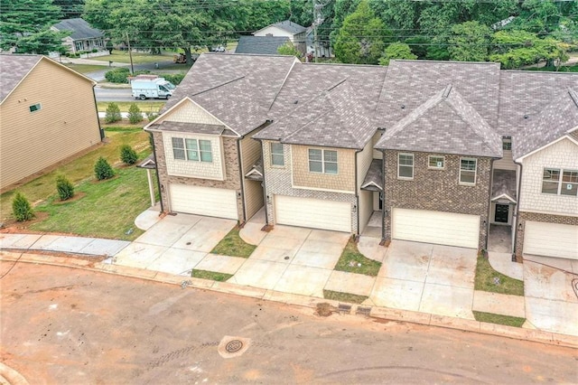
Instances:
[[[455,24],[450,36],[452,61],[486,61],[488,59],[491,30],[478,22]]]

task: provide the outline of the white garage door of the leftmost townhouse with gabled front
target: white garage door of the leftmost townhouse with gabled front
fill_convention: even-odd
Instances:
[[[188,214],[237,220],[237,195],[234,190],[171,184],[171,210]]]

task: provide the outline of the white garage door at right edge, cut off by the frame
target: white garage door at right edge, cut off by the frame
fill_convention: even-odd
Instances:
[[[578,226],[526,222],[524,254],[578,259]]]

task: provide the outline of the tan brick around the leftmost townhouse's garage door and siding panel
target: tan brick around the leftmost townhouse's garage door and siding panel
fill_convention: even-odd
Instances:
[[[158,170],[159,181],[161,183],[161,200],[164,211],[170,211],[169,184],[180,183],[191,186],[216,187],[219,189],[235,190],[237,192],[237,212],[238,220],[243,221],[243,202],[240,198],[241,183],[239,180],[238,148],[237,138],[223,136],[223,151],[225,157],[225,180],[216,181],[211,179],[201,179],[195,177],[174,176],[167,174],[165,149],[163,146],[163,133],[154,132],[154,149],[156,152],[156,168]],[[168,149],[171,151],[171,149]],[[194,197],[191,197],[194,199]]]

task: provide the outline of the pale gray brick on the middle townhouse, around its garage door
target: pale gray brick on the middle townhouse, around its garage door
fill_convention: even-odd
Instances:
[[[322,199],[324,201],[350,202],[351,208],[357,204],[355,193],[326,192],[310,189],[295,189],[291,183],[291,146],[284,146],[284,167],[271,165],[270,142],[263,141],[263,167],[265,171],[267,223],[275,224],[274,195],[289,195],[303,198]],[[355,182],[353,182],[355,184]],[[351,212],[351,232],[357,233],[357,212]]]

